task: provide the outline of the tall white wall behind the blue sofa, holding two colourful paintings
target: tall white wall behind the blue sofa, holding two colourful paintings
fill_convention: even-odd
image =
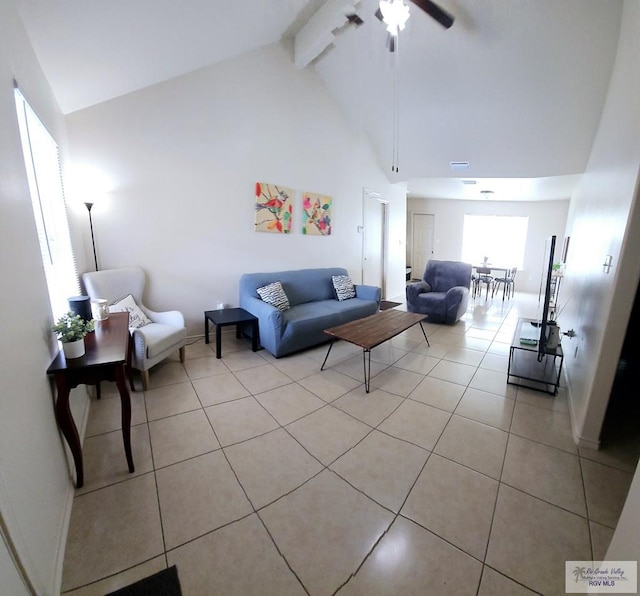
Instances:
[[[142,266],[145,302],[182,310],[190,334],[203,333],[204,310],[238,304],[245,272],[335,265],[359,281],[363,187],[391,201],[389,295],[404,291],[404,187],[389,184],[364,135],[282,44],[67,122],[73,162],[112,184],[92,212],[100,267]],[[303,236],[299,217],[292,234],[254,232],[257,181],[332,196],[332,235]]]

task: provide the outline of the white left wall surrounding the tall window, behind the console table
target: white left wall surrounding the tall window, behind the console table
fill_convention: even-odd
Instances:
[[[14,78],[64,144],[64,120],[13,2],[0,2],[0,514],[37,593],[55,594],[73,487],[45,374],[57,342],[49,331]]]

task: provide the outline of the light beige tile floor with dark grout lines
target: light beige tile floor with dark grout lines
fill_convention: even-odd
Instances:
[[[92,400],[67,594],[177,565],[183,593],[561,594],[565,560],[602,558],[638,442],[576,447],[567,398],[506,383],[536,298],[477,300],[454,327],[372,353],[276,360],[203,340],[132,394],[136,472],[113,387]],[[402,308],[402,307],[400,307]],[[566,342],[569,340],[565,338]]]

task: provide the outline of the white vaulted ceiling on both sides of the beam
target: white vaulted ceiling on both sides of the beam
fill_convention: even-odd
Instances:
[[[14,1],[65,113],[293,38],[324,4]],[[606,98],[622,0],[439,0],[456,18],[448,30],[407,2],[394,54],[377,1],[345,0],[364,24],[334,31],[307,66],[369,136],[389,178],[407,181],[410,196],[568,198]]]

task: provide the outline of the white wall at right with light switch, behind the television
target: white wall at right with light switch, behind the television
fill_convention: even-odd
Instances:
[[[638,31],[640,3],[625,2],[609,95],[567,223],[567,305],[559,322],[578,334],[565,346],[565,364],[574,435],[589,446],[598,444],[640,279],[640,213],[634,206],[640,167]],[[613,257],[609,274],[602,267],[606,255]]]

